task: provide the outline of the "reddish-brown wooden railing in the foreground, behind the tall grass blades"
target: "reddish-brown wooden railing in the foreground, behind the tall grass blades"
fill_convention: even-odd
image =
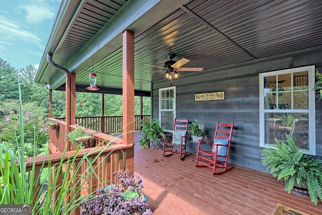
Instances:
[[[90,117],[92,118],[92,117]],[[66,141],[65,138],[65,126],[66,123],[61,119],[49,118],[50,120],[56,121],[59,127],[55,130],[49,129],[49,144],[48,148],[50,151],[50,164],[54,166],[55,164],[59,164],[61,159],[64,161],[68,160],[68,156],[73,157],[76,153],[77,147],[70,142]],[[80,126],[82,127],[82,126]],[[85,127],[82,127],[86,129]],[[76,129],[76,126],[70,125],[70,130]],[[89,193],[95,191],[95,189],[100,186],[107,185],[115,182],[115,177],[113,176],[113,172],[128,168],[127,163],[133,163],[134,155],[133,155],[133,145],[125,145],[123,144],[123,139],[119,137],[115,137],[106,133],[97,132],[94,129],[86,129],[86,131],[95,136],[96,148],[84,149],[84,153],[91,153],[91,158],[95,158],[99,156],[95,162],[92,162],[92,167],[95,169],[94,172],[89,172],[89,164],[84,162],[81,164],[79,168],[79,174],[82,177],[89,176],[90,180],[84,181],[82,183],[82,190],[79,195],[88,195]],[[110,146],[106,148],[106,145],[110,143]],[[67,146],[66,146],[67,144]],[[65,149],[66,148],[66,149]],[[69,153],[63,154],[63,151],[67,150]],[[84,156],[82,151],[78,151],[77,158],[82,158]],[[27,159],[28,160],[28,159]],[[48,156],[37,156],[36,158],[36,169],[40,169],[43,162],[49,162]],[[28,160],[29,162],[29,160]],[[32,166],[32,159],[28,163],[28,165]],[[29,166],[27,165],[27,168]],[[68,165],[68,164],[66,164]],[[76,162],[76,165],[77,162]],[[64,166],[66,168],[66,166]],[[64,169],[63,168],[63,169]],[[100,183],[99,183],[100,180]],[[82,180],[81,180],[82,181]],[[79,186],[79,180],[75,179],[72,186]],[[55,196],[58,196],[59,193],[56,193]],[[54,196],[54,197],[55,197]],[[79,211],[75,211],[75,214],[79,214]]]

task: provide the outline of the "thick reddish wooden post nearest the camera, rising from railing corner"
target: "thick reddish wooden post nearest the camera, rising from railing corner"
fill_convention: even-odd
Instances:
[[[134,33],[129,30],[123,32],[123,144],[134,144]],[[126,162],[134,174],[134,156]]]

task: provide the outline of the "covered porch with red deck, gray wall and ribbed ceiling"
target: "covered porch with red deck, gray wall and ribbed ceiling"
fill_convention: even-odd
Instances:
[[[74,124],[81,122],[96,137],[97,144],[112,141],[112,148],[104,151],[111,156],[102,158],[98,176],[113,182],[114,170],[134,170],[146,183],[144,192],[155,214],[271,214],[277,203],[320,214],[320,205],[314,206],[308,197],[287,194],[282,183],[265,173],[261,154],[264,147],[271,147],[271,142],[264,142],[269,133],[265,130],[267,119],[273,118],[270,115],[301,113],[310,122],[305,150],[314,156],[322,155],[322,107],[319,95],[312,91],[314,71],[322,68],[322,3],[112,2],[62,3],[60,20],[55,23],[36,77],[51,92],[66,91],[66,119],[51,118],[58,122],[59,130],[49,133],[50,152],[58,156],[65,147],[74,152],[64,132],[74,130]],[[176,54],[178,61],[191,60],[183,72],[176,68],[180,79],[171,82],[162,70],[170,68],[173,73],[166,61],[169,54]],[[281,76],[283,69],[306,65],[311,66],[309,70],[289,71],[287,79]],[[203,71],[196,73],[189,69],[192,67],[203,67]],[[100,88],[97,93],[123,95],[123,139],[106,134],[114,130],[106,129],[104,114],[93,118],[93,123],[75,116],[75,92],[87,91],[88,75],[94,72]],[[259,79],[260,74],[271,72],[274,74],[270,77]],[[303,85],[294,84],[296,73],[304,77]],[[281,93],[284,89],[279,87],[284,87],[286,93]],[[296,87],[303,87],[297,90],[304,92],[302,100],[293,99]],[[264,91],[270,93],[265,108]],[[195,94],[214,92],[225,93],[225,98],[194,99]],[[189,157],[181,162],[173,156],[163,158],[158,149],[141,149],[137,144],[139,136],[133,132],[137,121],[134,96],[142,94],[151,97],[151,118],[159,119],[168,130],[174,118],[189,118],[190,122],[198,119],[211,139],[215,121],[235,122],[229,155],[229,163],[235,168],[224,175],[211,176],[207,169],[195,168]],[[283,94],[289,95],[287,99],[278,98]],[[287,105],[281,108],[279,101]],[[50,117],[51,108],[50,104]],[[92,178],[91,184],[95,183]]]

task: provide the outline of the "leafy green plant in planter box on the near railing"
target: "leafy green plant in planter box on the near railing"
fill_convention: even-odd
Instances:
[[[81,145],[83,149],[95,147],[95,137],[84,131],[81,127],[77,127],[66,134],[69,142],[74,145]]]

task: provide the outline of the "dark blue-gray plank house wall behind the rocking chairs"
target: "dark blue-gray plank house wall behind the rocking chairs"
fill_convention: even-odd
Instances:
[[[313,53],[294,52],[257,59],[235,65],[229,65],[213,71],[202,72],[198,76],[185,76],[173,81],[177,92],[177,118],[198,119],[206,125],[206,133],[210,139],[214,135],[217,121],[234,122],[229,163],[251,169],[266,171],[261,164],[264,148],[260,145],[259,118],[259,74],[314,64],[322,72],[322,51]],[[153,113],[158,119],[158,89],[170,87],[170,82],[153,83]],[[226,91],[224,101],[195,102],[195,93]],[[316,155],[322,156],[322,101],[316,98]],[[189,146],[189,152],[192,152]],[[211,148],[209,146],[209,148]],[[186,159],[190,159],[189,157]],[[193,163],[192,163],[193,166]]]

